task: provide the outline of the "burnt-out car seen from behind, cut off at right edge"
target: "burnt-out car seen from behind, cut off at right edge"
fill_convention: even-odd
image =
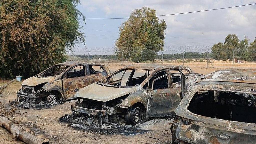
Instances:
[[[175,112],[175,144],[256,143],[256,69],[220,70],[202,77]]]

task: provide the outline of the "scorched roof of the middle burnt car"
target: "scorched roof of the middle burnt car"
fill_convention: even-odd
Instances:
[[[187,69],[189,71],[192,71],[190,68],[186,66],[173,66],[168,64],[136,64],[136,65],[126,66],[123,69],[137,69],[137,70]]]

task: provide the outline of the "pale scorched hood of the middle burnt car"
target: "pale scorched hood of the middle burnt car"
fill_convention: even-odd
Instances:
[[[89,85],[79,90],[76,93],[75,97],[107,102],[107,101],[122,97],[124,95],[130,94],[135,91],[137,91],[137,87],[114,88],[114,87],[101,86],[101,85],[98,85],[97,83],[94,83],[92,85]]]

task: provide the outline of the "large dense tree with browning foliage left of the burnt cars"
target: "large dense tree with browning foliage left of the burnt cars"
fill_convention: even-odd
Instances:
[[[66,61],[66,48],[85,41],[78,4],[79,0],[1,0],[0,76],[30,77]]]

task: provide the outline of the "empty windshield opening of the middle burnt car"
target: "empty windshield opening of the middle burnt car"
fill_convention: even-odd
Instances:
[[[122,69],[100,84],[118,88],[131,88],[140,85],[151,73],[148,70]]]

